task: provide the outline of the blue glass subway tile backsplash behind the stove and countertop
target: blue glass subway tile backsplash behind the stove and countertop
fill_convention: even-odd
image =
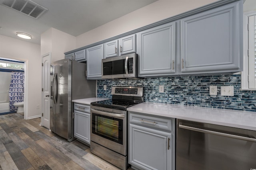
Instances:
[[[164,93],[159,93],[159,85]],[[240,90],[240,74],[98,80],[97,97],[111,98],[112,86],[143,86],[148,102],[256,111],[256,91]],[[216,96],[210,96],[209,86],[217,86]],[[220,86],[234,86],[234,96],[220,96]]]

